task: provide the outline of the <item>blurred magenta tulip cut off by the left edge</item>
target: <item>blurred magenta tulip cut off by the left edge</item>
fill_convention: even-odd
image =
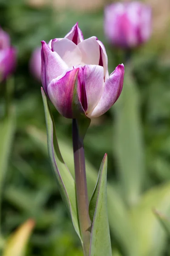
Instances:
[[[0,81],[6,79],[16,66],[16,49],[10,45],[9,35],[0,28]]]

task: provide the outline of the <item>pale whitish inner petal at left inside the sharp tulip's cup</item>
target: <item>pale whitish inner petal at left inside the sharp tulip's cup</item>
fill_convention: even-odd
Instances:
[[[51,46],[53,51],[58,53],[68,67],[73,67],[74,65],[79,65],[81,63],[82,53],[78,46],[71,40],[68,40],[67,38],[63,38],[59,41],[53,40]]]

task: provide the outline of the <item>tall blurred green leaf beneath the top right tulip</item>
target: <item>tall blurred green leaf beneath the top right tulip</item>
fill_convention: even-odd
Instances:
[[[114,108],[115,140],[119,177],[127,204],[135,204],[140,197],[144,176],[144,152],[142,125],[139,111],[139,95],[130,69],[125,67],[122,94]]]

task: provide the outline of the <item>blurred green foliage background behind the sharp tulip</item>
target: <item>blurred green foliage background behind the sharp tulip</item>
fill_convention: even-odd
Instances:
[[[108,215],[113,256],[168,256],[170,237],[153,209],[170,217],[170,2],[148,0],[153,35],[129,62],[103,31],[106,1],[0,0],[0,26],[11,36],[18,60],[11,117],[0,124],[0,247],[26,219],[36,226],[27,256],[82,256],[52,173],[47,152],[41,83],[31,76],[31,52],[40,41],[62,38],[78,21],[84,38],[106,47],[109,73],[125,64],[122,95],[92,120],[85,137],[89,197],[108,153]],[[0,111],[4,88],[0,84]],[[71,120],[51,105],[59,146],[74,173]],[[11,255],[12,256],[12,255]]]

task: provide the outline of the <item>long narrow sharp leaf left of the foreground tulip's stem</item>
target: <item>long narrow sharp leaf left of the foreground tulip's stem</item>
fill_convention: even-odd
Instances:
[[[82,242],[80,231],[79,231],[79,221],[77,213],[77,201],[76,201],[76,190],[75,182],[71,173],[69,172],[67,166],[62,159],[62,155],[59,151],[59,145],[56,137],[56,130],[54,125],[54,119],[51,114],[47,98],[45,96],[44,90],[42,89],[42,99],[45,109],[45,119],[47,127],[47,142],[48,142],[48,154],[51,161],[52,169],[57,177],[57,184],[59,186],[59,191],[61,193],[62,199],[65,201],[69,215],[71,216],[74,229]]]

